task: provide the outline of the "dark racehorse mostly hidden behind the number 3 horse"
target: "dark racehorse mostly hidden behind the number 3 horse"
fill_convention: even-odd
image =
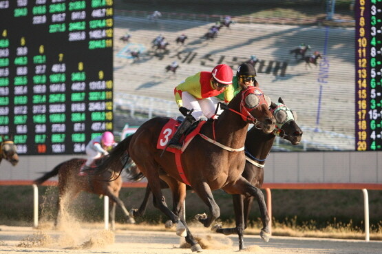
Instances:
[[[276,136],[290,141],[293,145],[299,144],[303,131],[295,120],[297,115],[285,106],[282,98],[273,109],[277,128],[271,134],[264,134],[256,128],[251,128],[246,134],[246,164],[242,176],[253,186],[261,188],[264,181],[264,164]],[[237,233],[239,235],[239,249],[244,249],[243,233],[248,226],[248,216],[251,211],[253,197],[250,195],[232,195],[233,209],[235,210],[236,227],[222,228],[221,224],[213,226],[213,230],[224,235]],[[243,200],[244,199],[244,200]],[[257,200],[259,208],[265,206],[264,200]]]

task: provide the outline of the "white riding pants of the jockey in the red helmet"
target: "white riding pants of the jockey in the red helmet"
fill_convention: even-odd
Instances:
[[[211,118],[215,114],[215,106],[211,98],[202,98],[197,99],[188,92],[182,92],[182,102],[183,107],[187,109],[193,109],[191,115],[199,120],[202,115],[206,116],[206,118]]]

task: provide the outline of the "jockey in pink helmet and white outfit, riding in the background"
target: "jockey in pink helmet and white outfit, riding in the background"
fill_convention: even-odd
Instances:
[[[95,159],[109,154],[109,150],[116,145],[114,142],[114,135],[110,131],[105,131],[101,136],[96,136],[87,143],[86,155],[87,161],[85,165],[80,169],[80,176],[85,175],[85,170],[92,167],[92,163]]]

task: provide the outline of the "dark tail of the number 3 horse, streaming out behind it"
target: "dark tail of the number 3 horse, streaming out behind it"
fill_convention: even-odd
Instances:
[[[119,172],[122,170],[120,168],[121,159],[130,158],[129,154],[127,154],[127,149],[129,149],[129,145],[130,145],[130,141],[132,137],[133,135],[128,136],[127,138],[119,142],[119,144],[116,147],[114,147],[114,149],[109,153],[109,156],[107,156],[107,159],[103,160],[103,162],[100,165],[95,167],[94,172],[92,172],[91,174],[98,175],[106,171],[112,171],[118,175]]]

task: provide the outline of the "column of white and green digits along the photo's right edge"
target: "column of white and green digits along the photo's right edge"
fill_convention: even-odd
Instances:
[[[381,2],[370,3],[370,143],[368,149],[382,147],[382,47]]]

